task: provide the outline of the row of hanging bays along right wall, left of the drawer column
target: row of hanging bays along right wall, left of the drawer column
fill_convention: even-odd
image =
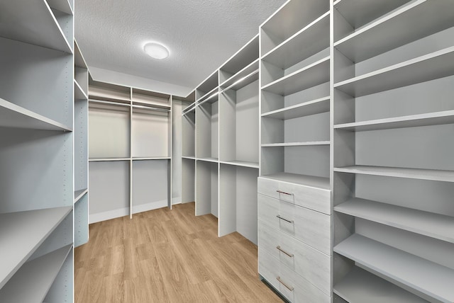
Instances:
[[[218,217],[218,235],[257,243],[258,36],[196,87],[182,111],[183,202]]]

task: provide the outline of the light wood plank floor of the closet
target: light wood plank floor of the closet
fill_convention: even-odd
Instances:
[[[257,246],[218,238],[216,224],[194,203],[91,224],[74,251],[75,302],[282,302],[258,278]]]

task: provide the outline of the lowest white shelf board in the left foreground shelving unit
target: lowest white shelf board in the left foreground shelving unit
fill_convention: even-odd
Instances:
[[[68,245],[23,264],[1,288],[0,302],[43,302],[71,249]]]

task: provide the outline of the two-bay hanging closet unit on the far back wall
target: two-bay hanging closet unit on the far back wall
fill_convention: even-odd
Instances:
[[[172,96],[89,82],[90,222],[171,207]]]

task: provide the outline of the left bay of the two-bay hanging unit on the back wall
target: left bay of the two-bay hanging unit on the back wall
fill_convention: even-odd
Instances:
[[[89,222],[131,215],[131,88],[89,79]]]

